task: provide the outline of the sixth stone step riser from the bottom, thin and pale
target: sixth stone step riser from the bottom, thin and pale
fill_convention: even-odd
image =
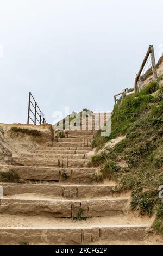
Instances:
[[[21,154],[22,157],[52,157],[53,159],[62,159],[62,158],[66,158],[66,159],[84,159],[85,154],[57,154],[57,153],[28,153],[28,154]]]

